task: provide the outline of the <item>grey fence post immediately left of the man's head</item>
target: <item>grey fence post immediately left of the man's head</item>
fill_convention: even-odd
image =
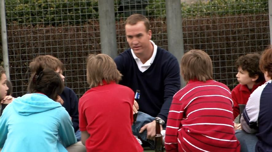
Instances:
[[[101,52],[114,59],[117,56],[114,1],[99,0],[98,7]]]

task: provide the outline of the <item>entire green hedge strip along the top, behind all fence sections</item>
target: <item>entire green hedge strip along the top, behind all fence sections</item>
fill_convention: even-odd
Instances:
[[[99,18],[97,0],[73,1],[6,0],[7,24],[83,24]],[[114,2],[115,6],[118,4],[120,7],[120,0]],[[268,12],[267,5],[267,0],[212,0],[191,5],[182,2],[181,12],[183,18],[260,14]],[[115,11],[118,7],[115,7]],[[146,9],[149,16],[165,17],[165,0],[149,0]],[[120,12],[118,15],[123,16]]]

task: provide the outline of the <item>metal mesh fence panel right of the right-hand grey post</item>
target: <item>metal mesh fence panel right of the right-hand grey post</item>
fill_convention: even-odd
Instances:
[[[201,49],[213,61],[214,78],[230,89],[238,84],[235,61],[269,45],[267,0],[182,2],[185,51]]]

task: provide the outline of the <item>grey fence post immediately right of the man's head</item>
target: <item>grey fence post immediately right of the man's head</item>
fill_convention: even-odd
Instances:
[[[181,20],[181,1],[166,0],[166,20],[167,20],[167,38],[168,50],[176,56],[178,62],[184,54],[182,20]],[[186,85],[181,78],[181,87]]]

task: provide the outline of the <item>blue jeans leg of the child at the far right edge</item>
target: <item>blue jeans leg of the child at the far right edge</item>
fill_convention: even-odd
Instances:
[[[235,136],[241,144],[241,152],[255,152],[258,138],[255,134],[249,134],[243,130],[236,130]]]

